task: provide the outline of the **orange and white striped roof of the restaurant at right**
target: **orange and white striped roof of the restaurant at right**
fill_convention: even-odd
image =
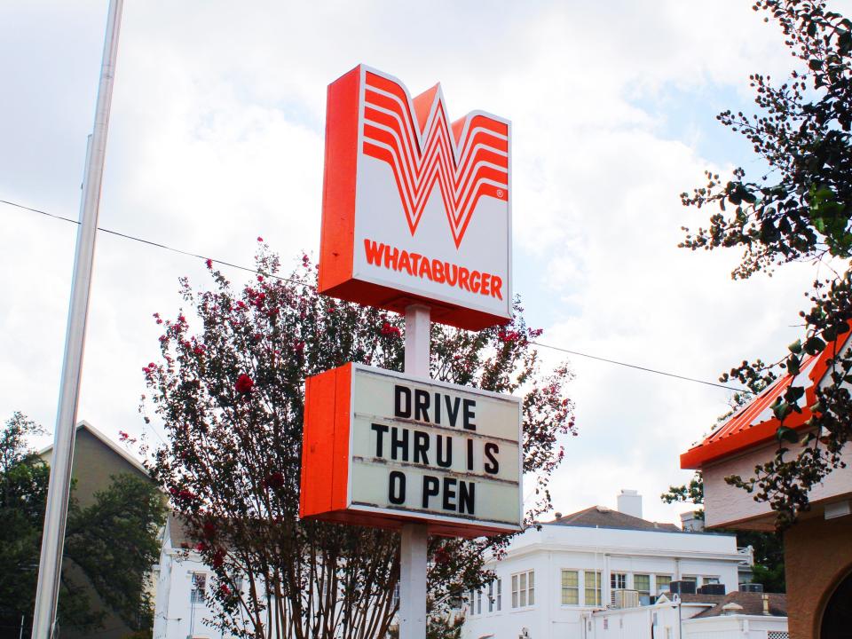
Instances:
[[[784,425],[792,429],[806,428],[811,417],[809,406],[816,401],[817,388],[823,381],[833,359],[849,348],[852,332],[840,335],[829,343],[818,355],[806,355],[801,362],[799,375],[795,382],[805,387],[805,394],[797,402],[801,413],[792,413],[785,419]],[[737,454],[753,446],[772,441],[781,423],[772,412],[772,406],[784,397],[792,375],[779,377],[750,403],[740,408],[727,422],[714,430],[700,444],[693,446],[681,455],[681,468],[699,469],[708,461],[715,461],[730,454]]]

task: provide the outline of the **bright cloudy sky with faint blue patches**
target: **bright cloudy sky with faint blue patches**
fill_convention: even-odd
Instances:
[[[0,4],[0,199],[77,217],[106,4]],[[415,94],[440,81],[453,119],[513,123],[514,289],[542,341],[715,381],[782,354],[815,274],[735,282],[738,254],[677,248],[709,215],[679,199],[703,170],[760,170],[714,119],[750,108],[749,73],[792,64],[751,4],[127,0],[100,225],[236,264],[258,235],[285,261],[315,255],[327,84],[362,62]],[[75,225],[0,204],[2,419],[52,430],[74,241]],[[204,282],[203,264],[101,234],[95,268],[79,417],[138,434],[151,314],[174,315],[177,277]],[[678,456],[730,393],[570,362],[580,436],[556,509],[635,488],[646,517],[679,521],[659,493],[689,479]]]

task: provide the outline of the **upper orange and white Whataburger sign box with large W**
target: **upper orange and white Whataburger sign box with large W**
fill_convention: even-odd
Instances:
[[[440,85],[412,99],[359,66],[328,87],[319,291],[477,330],[511,317],[511,126],[449,122]]]

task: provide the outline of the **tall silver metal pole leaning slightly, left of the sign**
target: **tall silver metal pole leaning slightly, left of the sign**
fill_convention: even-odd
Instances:
[[[106,18],[104,53],[100,67],[98,104],[89,141],[83,194],[80,202],[80,226],[74,258],[71,301],[65,336],[65,357],[62,361],[62,381],[59,387],[59,406],[53,435],[51,478],[44,511],[42,555],[38,564],[36,609],[33,613],[33,639],[50,639],[56,627],[56,606],[59,596],[59,575],[65,543],[65,523],[68,511],[68,488],[71,484],[71,461],[74,457],[74,435],[77,421],[77,399],[80,392],[80,373],[83,368],[83,348],[86,340],[86,318],[89,312],[91,266],[95,256],[95,234],[98,230],[100,185],[104,174],[106,130],[109,107],[113,97],[115,58],[118,34],[122,21],[123,0],[110,0]]]

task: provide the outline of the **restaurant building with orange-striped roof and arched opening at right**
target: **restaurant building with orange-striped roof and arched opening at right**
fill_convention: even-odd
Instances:
[[[808,429],[809,406],[831,372],[832,358],[848,349],[852,333],[802,362],[796,383],[804,383],[801,414],[785,426]],[[708,528],[769,531],[774,513],[766,502],[728,485],[725,477],[752,477],[754,467],[775,456],[779,422],[772,405],[793,379],[785,375],[732,415],[697,446],[681,455],[681,467],[704,476],[704,507]],[[799,445],[785,444],[792,457]],[[852,451],[844,451],[845,468],[835,469],[810,493],[811,509],[784,537],[787,612],[791,639],[833,639],[849,636],[852,624]],[[846,633],[846,634],[844,634]]]

